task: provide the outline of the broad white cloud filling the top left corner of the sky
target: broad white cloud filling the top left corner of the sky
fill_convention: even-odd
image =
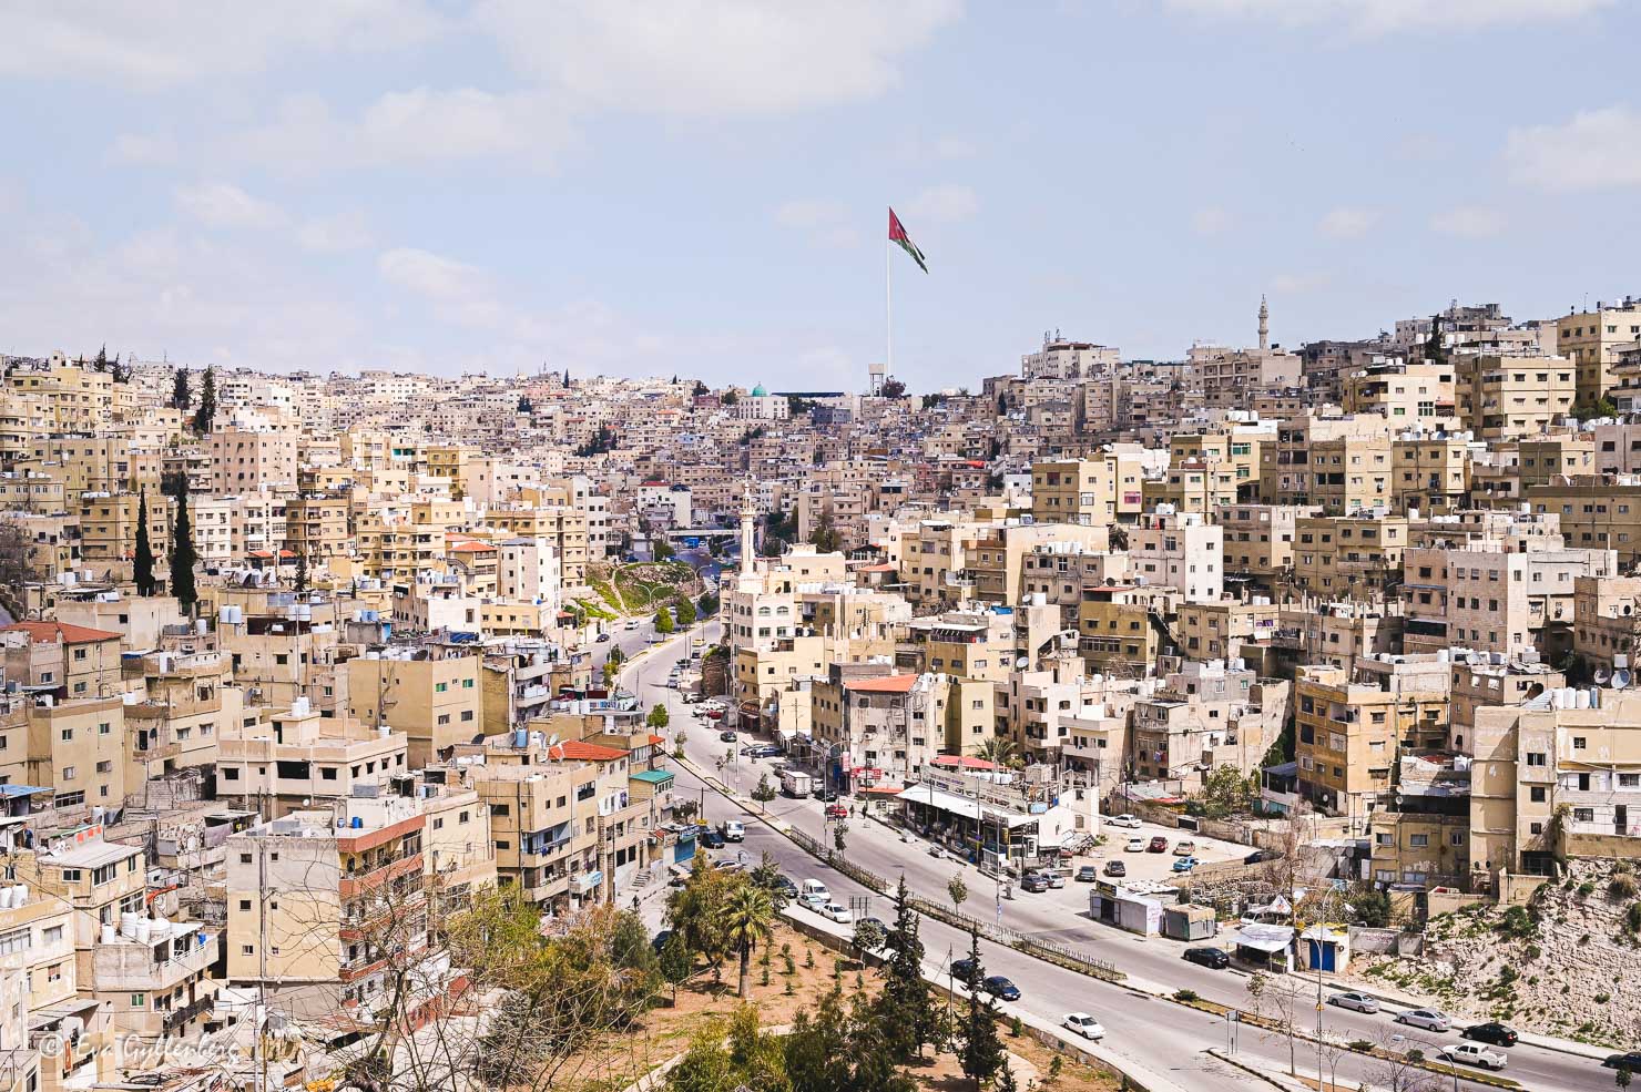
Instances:
[[[190,84],[295,52],[400,49],[443,25],[423,0],[18,3],[7,5],[0,75]]]

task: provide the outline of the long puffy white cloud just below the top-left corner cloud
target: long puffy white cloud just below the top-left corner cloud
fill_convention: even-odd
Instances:
[[[573,143],[566,111],[546,95],[418,87],[381,95],[356,118],[336,116],[317,95],[292,95],[236,146],[271,169],[313,174],[486,156],[546,164]]]

